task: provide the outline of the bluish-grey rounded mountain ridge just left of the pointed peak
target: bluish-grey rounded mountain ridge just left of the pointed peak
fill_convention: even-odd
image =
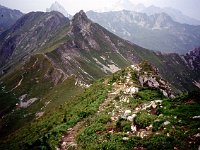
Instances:
[[[39,46],[41,47],[48,39],[52,38],[52,34],[66,21],[69,20],[58,12],[31,12],[24,15],[12,28],[1,35],[0,66],[3,67],[6,64],[6,68],[9,68],[14,61],[18,62],[27,57],[29,53],[33,53],[34,49],[38,49]],[[33,25],[30,25],[31,23]],[[46,27],[44,27],[45,24]],[[36,42],[39,42],[39,44],[35,44]],[[21,53],[22,51],[23,53]],[[1,68],[1,72],[6,68]]]

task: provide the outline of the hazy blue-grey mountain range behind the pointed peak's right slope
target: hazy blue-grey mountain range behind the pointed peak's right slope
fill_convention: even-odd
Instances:
[[[112,33],[148,49],[185,54],[200,46],[200,26],[180,24],[165,13],[123,10],[89,11],[87,15]]]

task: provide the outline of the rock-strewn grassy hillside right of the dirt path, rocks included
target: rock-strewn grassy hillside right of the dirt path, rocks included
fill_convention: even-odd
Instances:
[[[137,77],[131,68],[113,75],[107,102],[77,133],[78,149],[197,149],[199,93],[169,98],[162,79],[156,78],[157,87],[148,79],[142,87]]]

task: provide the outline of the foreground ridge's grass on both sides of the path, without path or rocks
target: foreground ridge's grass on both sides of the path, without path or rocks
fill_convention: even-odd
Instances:
[[[199,115],[200,105],[197,96],[185,95],[175,99],[167,99],[155,89],[140,88],[139,92],[130,98],[129,104],[124,107],[135,109],[139,105],[152,100],[163,100],[162,107],[157,107],[155,115],[147,115],[150,110],[140,111],[135,123],[141,128],[153,124],[152,134],[145,138],[128,136],[130,123],[126,120],[112,122],[108,112],[112,111],[112,103],[104,111],[97,114],[99,105],[107,98],[112,90],[112,83],[120,80],[126,72],[120,71],[113,76],[95,82],[90,88],[76,97],[63,98],[66,85],[58,85],[49,91],[44,98],[62,98],[64,103],[55,109],[49,109],[40,119],[28,123],[23,128],[9,135],[7,141],[1,143],[3,149],[54,149],[65,133],[66,129],[74,126],[82,119],[86,124],[80,130],[77,141],[79,149],[133,149],[144,147],[147,149],[195,149],[199,142],[194,135],[198,133],[199,121],[192,119]],[[133,75],[134,84],[137,85],[136,76]],[[111,83],[107,84],[108,82]],[[69,84],[67,84],[69,85]],[[140,87],[139,85],[137,85]],[[63,93],[56,93],[62,90]],[[191,101],[192,103],[188,103]],[[62,101],[62,100],[61,100]],[[183,113],[184,112],[184,113]],[[163,114],[163,115],[160,115]],[[156,121],[158,120],[159,121]],[[181,120],[181,121],[179,121]],[[165,121],[170,121],[168,126],[163,126]],[[119,126],[120,125],[120,126]],[[109,133],[110,128],[114,133]],[[166,129],[164,129],[166,128]],[[158,135],[155,133],[159,133]],[[170,136],[167,136],[169,134]],[[128,140],[122,140],[129,137]],[[5,142],[5,143],[4,143]],[[189,143],[191,142],[191,143]]]

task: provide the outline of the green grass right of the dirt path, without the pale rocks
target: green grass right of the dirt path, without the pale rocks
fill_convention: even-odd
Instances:
[[[115,80],[111,78],[111,83],[120,80],[121,75],[115,74],[114,78],[112,77]],[[141,138],[128,133],[131,132],[130,121],[125,119],[112,121],[112,113],[109,112],[113,112],[114,103],[111,102],[103,112],[88,118],[87,123],[79,131],[77,136],[79,149],[129,150],[174,149],[174,147],[197,149],[200,139],[195,135],[199,133],[200,122],[199,119],[192,117],[200,113],[198,93],[168,99],[155,89],[140,87],[139,92],[130,97],[129,103],[123,103],[123,107],[133,111],[136,107],[158,99],[163,102],[156,108],[156,114],[151,113],[152,109],[141,110],[133,121],[137,128],[143,130],[152,124],[153,128],[149,136]],[[170,124],[164,125],[166,121]],[[123,140],[124,137],[128,139]]]

